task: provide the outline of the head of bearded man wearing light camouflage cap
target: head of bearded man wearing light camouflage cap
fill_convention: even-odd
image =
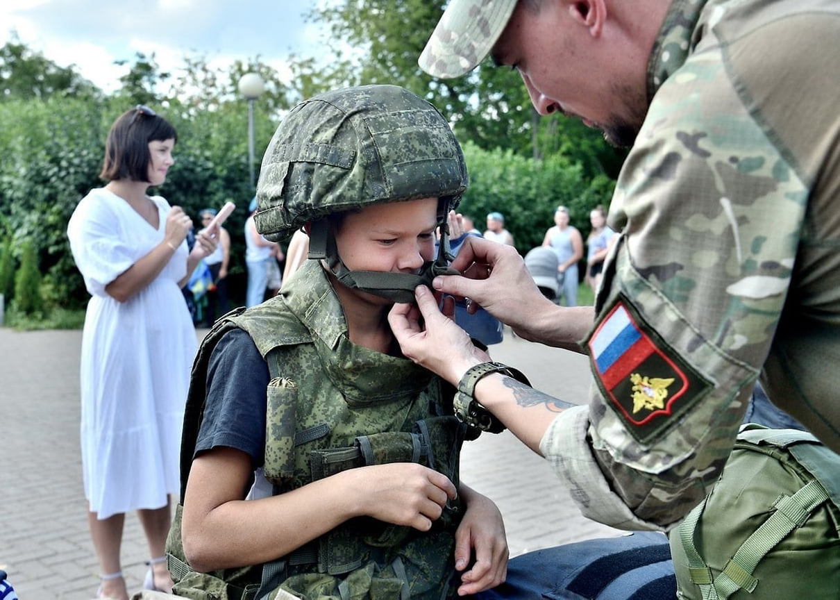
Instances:
[[[633,145],[648,109],[650,49],[668,2],[450,0],[419,65],[438,77],[491,55],[522,75],[538,113],[560,112]]]

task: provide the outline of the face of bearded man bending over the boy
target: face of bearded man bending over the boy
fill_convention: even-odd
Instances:
[[[612,145],[633,145],[647,112],[647,55],[595,28],[573,4],[518,3],[493,48],[497,65],[519,71],[538,113],[564,113],[601,129]]]

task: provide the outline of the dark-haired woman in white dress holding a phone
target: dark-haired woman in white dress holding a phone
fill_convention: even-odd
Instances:
[[[100,177],[67,227],[92,297],[81,341],[81,461],[87,520],[102,572],[98,597],[129,597],[120,566],[125,513],[137,510],[150,551],[145,586],[171,590],[165,539],[196,333],[181,286],[216,247],[218,227],[192,221],[160,196],[176,130],[138,106],[112,125]]]

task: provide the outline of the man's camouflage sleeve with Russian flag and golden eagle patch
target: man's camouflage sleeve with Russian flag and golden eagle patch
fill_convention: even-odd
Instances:
[[[812,182],[732,82],[735,50],[706,35],[656,92],[612,201],[591,404],[541,445],[582,512],[622,529],[669,529],[709,491],[790,287]]]

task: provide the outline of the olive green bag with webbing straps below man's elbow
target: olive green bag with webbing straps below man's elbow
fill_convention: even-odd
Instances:
[[[714,489],[669,534],[677,597],[840,597],[840,455],[744,425]]]

